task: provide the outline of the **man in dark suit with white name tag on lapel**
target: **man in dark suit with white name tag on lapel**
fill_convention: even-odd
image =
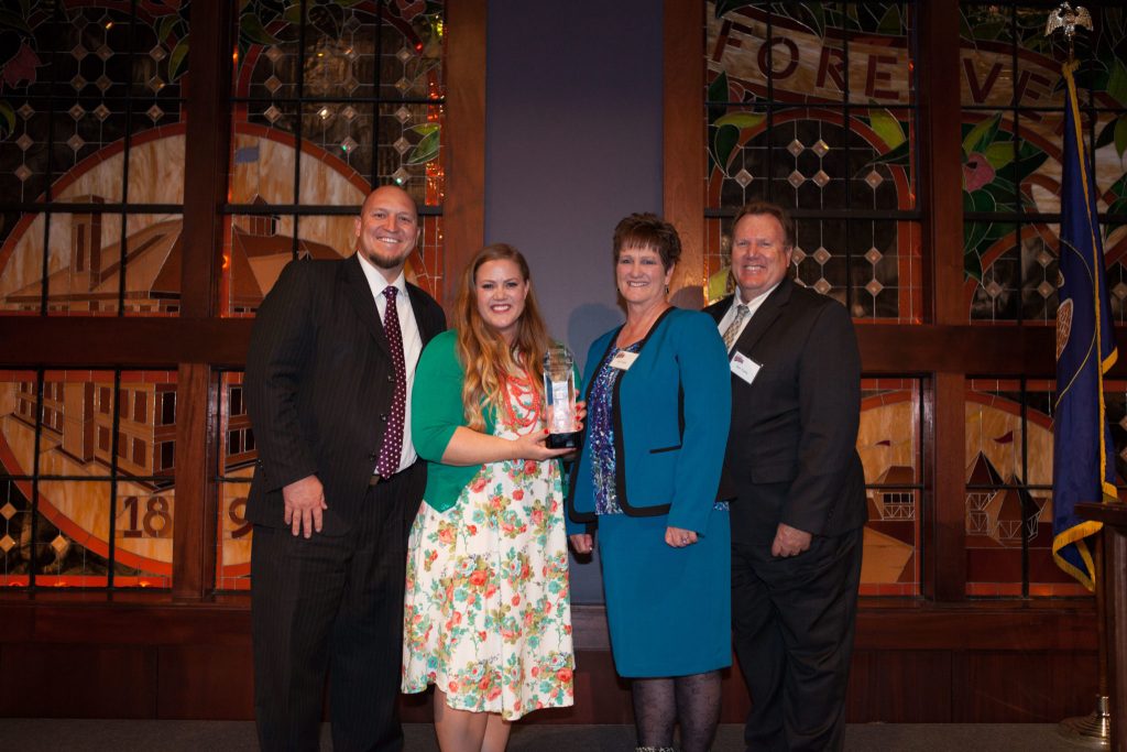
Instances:
[[[861,368],[846,310],[788,278],[793,247],[784,210],[744,206],[738,290],[708,309],[731,365],[733,632],[748,749],[836,750],[867,517]]]

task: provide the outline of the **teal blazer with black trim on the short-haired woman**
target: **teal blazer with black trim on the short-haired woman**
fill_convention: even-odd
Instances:
[[[583,382],[591,384],[621,327],[596,339]],[[728,353],[712,317],[671,308],[642,339],[614,384],[618,501],[633,516],[668,514],[674,528],[707,533],[731,418]],[[596,521],[591,442],[584,442],[567,499],[568,533]]]

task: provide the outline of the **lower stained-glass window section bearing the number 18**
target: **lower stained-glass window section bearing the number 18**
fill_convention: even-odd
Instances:
[[[53,587],[168,587],[175,371],[0,373],[2,582]]]

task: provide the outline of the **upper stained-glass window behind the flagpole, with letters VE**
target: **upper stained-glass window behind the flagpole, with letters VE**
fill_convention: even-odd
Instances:
[[[1081,118],[1095,161],[1111,310],[1127,299],[1127,14],[1086,3],[1075,57]],[[964,271],[971,321],[1051,324],[1058,304],[1064,88],[1062,35],[1045,6],[960,3]]]

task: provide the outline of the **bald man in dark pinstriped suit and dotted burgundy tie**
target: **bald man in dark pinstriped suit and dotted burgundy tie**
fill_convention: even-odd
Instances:
[[[263,750],[316,750],[325,675],[335,750],[401,750],[398,696],[407,536],[426,483],[410,386],[445,328],[405,280],[419,237],[401,188],[373,191],[356,253],[289,264],[247,354],[258,444],[251,629]]]

